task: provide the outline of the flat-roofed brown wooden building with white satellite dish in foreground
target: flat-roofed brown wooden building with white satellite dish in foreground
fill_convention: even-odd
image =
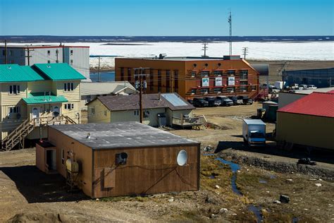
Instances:
[[[56,164],[47,167],[68,179],[66,164],[78,163],[77,185],[91,198],[199,189],[200,144],[138,122],[49,126],[49,143]],[[53,160],[45,152],[43,168]]]

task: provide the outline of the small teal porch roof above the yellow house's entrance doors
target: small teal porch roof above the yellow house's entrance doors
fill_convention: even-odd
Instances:
[[[68,102],[66,97],[63,95],[44,95],[44,92],[30,93],[28,97],[24,97],[22,100],[27,104],[51,104]]]

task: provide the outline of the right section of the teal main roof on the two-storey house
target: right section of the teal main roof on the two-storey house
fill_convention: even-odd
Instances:
[[[82,80],[86,79],[70,65],[62,64],[34,64],[33,67],[42,71],[51,80]]]

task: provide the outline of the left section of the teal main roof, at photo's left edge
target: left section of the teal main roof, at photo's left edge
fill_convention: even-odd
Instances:
[[[19,66],[18,64],[0,64],[0,82],[23,82],[44,80],[30,66]]]

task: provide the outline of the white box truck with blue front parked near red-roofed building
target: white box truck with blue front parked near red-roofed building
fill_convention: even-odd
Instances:
[[[242,136],[250,146],[266,145],[266,123],[261,119],[244,119]]]

